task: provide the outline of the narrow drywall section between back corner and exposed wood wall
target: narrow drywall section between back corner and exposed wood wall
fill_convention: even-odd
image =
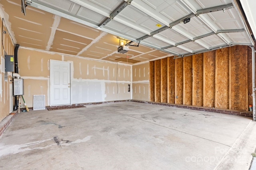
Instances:
[[[149,101],[149,62],[132,66],[132,99]],[[151,63],[152,64],[152,63]]]

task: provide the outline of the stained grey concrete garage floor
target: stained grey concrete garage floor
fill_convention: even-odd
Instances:
[[[19,113],[1,170],[248,170],[256,122],[136,102]]]

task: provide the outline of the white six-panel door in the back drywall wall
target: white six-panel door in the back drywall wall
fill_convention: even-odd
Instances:
[[[70,63],[50,60],[50,106],[70,102]]]

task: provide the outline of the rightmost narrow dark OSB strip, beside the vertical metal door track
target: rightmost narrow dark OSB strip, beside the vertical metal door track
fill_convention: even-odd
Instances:
[[[252,49],[247,47],[248,54],[248,105],[252,105]]]

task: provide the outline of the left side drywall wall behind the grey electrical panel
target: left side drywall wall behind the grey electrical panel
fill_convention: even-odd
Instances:
[[[2,20],[0,24],[2,25]],[[2,33],[3,30],[6,33]],[[5,72],[4,53],[14,55],[14,44],[4,24],[3,27],[0,27],[0,32],[0,121],[2,121],[12,111],[13,103],[12,72]],[[5,78],[5,74],[7,78]]]

